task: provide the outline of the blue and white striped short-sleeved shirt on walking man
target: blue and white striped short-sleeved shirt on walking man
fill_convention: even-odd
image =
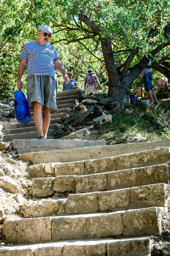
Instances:
[[[22,49],[20,59],[27,62],[27,78],[33,75],[46,75],[54,79],[54,61],[59,60],[59,56],[52,44],[28,42]]]

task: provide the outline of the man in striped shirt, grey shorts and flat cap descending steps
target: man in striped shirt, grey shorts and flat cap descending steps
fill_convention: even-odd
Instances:
[[[38,39],[26,43],[22,49],[17,76],[17,88],[20,90],[26,68],[27,101],[29,108],[34,109],[33,116],[39,139],[46,139],[50,112],[57,109],[54,70],[61,72],[65,83],[70,82],[56,50],[48,43],[51,36],[51,27],[39,26]]]

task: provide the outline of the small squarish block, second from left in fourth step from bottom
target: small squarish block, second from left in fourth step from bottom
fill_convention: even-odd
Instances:
[[[52,189],[56,192],[75,191],[75,175],[57,176],[54,178]]]

